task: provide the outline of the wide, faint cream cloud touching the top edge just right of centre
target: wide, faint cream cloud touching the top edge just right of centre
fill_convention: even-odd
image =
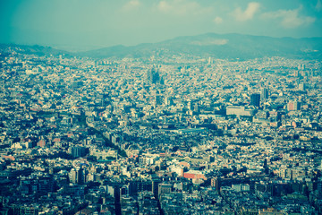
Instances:
[[[198,2],[189,0],[162,0],[157,4],[157,10],[175,15],[196,15],[208,13],[211,8],[202,7]]]

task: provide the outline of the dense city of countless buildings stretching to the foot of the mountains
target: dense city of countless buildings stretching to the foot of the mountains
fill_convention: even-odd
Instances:
[[[321,62],[0,53],[0,214],[322,214]]]

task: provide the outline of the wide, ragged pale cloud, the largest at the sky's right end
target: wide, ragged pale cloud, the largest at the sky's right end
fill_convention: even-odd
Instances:
[[[263,19],[276,19],[280,21],[280,24],[286,29],[298,28],[302,25],[309,25],[310,23],[315,22],[314,17],[310,16],[301,16],[299,13],[301,7],[294,10],[279,10],[275,12],[263,13]]]

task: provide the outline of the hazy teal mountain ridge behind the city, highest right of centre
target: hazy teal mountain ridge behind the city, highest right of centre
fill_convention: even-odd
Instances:
[[[33,49],[33,51],[39,52],[38,46]],[[46,47],[44,51],[62,53],[62,51],[49,47]],[[322,59],[322,38],[293,39],[208,33],[198,36],[168,39],[158,43],[145,43],[131,47],[114,46],[72,54],[65,52],[65,54],[94,58],[113,56],[137,58],[189,54],[192,56],[213,56],[225,59],[284,56],[319,60]]]

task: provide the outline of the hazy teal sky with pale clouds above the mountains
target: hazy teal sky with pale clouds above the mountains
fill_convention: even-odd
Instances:
[[[0,0],[0,42],[67,49],[207,32],[321,37],[322,0]]]

